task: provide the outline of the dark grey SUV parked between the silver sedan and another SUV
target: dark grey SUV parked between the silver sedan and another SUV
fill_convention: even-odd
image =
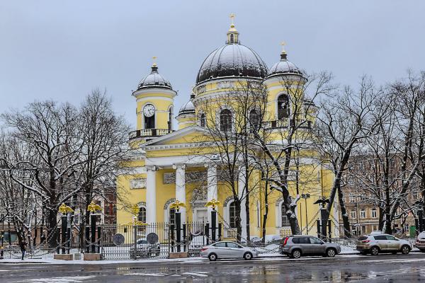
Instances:
[[[314,236],[287,236],[280,247],[280,253],[290,258],[300,258],[303,255],[323,255],[333,258],[341,253],[341,246],[336,243],[325,243]]]

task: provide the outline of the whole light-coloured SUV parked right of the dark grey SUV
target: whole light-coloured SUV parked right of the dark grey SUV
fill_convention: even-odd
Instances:
[[[399,253],[407,255],[412,250],[409,241],[396,238],[395,236],[380,234],[373,236],[361,236],[358,238],[356,250],[361,254],[378,255],[379,253]]]

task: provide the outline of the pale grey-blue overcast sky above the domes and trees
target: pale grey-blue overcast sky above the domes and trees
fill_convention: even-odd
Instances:
[[[33,100],[81,103],[106,88],[135,125],[132,90],[152,56],[189,99],[198,69],[224,45],[229,13],[243,45],[271,67],[281,41],[306,71],[355,85],[424,70],[425,1],[15,1],[0,0],[0,112]]]

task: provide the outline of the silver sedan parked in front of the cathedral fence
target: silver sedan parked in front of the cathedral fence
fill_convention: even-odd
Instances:
[[[255,250],[241,246],[239,243],[220,241],[203,247],[200,250],[200,256],[215,261],[220,258],[243,258],[244,260],[251,260],[259,255]]]

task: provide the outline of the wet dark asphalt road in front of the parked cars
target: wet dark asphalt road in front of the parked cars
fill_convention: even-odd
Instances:
[[[107,265],[0,262],[0,282],[425,282],[425,254]]]

